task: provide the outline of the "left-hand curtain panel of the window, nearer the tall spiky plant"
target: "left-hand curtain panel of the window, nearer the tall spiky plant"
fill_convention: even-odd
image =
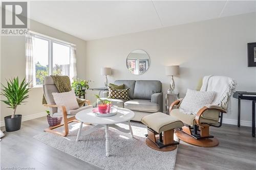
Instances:
[[[33,37],[30,33],[26,35],[26,81],[30,82],[28,87],[33,87],[33,72],[35,64],[33,59]]]

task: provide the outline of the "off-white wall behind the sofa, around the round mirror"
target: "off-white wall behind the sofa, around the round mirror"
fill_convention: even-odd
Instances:
[[[223,75],[236,79],[237,90],[256,91],[256,67],[247,67],[247,43],[256,41],[255,13],[218,18],[152,31],[87,41],[87,78],[90,87],[102,87],[100,67],[112,67],[109,82],[125,80],[160,80],[166,92],[170,77],[165,65],[180,65],[175,77],[177,90],[184,97],[186,89],[195,89],[205,75]],[[143,75],[132,75],[125,66],[127,55],[145,50],[151,66]],[[88,98],[95,101],[92,91]],[[251,122],[251,102],[242,101],[241,120]],[[237,100],[231,99],[228,119],[237,119]],[[234,120],[231,123],[236,123]]]

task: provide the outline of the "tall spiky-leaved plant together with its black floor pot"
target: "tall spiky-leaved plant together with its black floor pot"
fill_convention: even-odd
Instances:
[[[29,97],[28,92],[30,88],[27,88],[28,85],[29,82],[26,82],[25,78],[19,84],[18,77],[7,81],[7,86],[4,86],[1,83],[2,88],[0,94],[6,97],[6,100],[1,101],[7,104],[9,106],[8,108],[13,109],[12,115],[5,117],[5,128],[7,132],[17,131],[20,129],[22,115],[15,113],[17,106],[25,103],[25,100]]]

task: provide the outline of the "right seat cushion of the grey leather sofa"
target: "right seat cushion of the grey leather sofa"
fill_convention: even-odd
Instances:
[[[124,108],[130,110],[157,112],[160,109],[159,104],[153,103],[150,100],[133,99],[124,103]]]

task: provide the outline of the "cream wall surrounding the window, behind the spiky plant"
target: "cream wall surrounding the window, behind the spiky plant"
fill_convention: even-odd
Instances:
[[[34,20],[30,21],[30,30],[45,34],[60,40],[76,44],[77,48],[77,75],[79,78],[86,79],[86,41],[71,36],[67,33],[53,29]],[[25,56],[25,36],[1,36],[1,83],[5,79],[18,76],[23,79],[25,74],[26,56]],[[34,118],[45,112],[46,107],[42,106],[42,88],[32,88],[29,93],[28,103],[17,107],[17,114],[24,116],[23,120]],[[1,100],[3,96],[1,96]],[[1,122],[4,117],[10,115],[11,109],[1,102]],[[3,125],[3,124],[2,124]]]

